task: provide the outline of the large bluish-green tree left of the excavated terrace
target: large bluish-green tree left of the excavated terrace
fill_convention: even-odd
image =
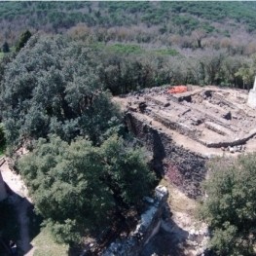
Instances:
[[[117,107],[102,90],[100,63],[88,47],[62,37],[33,37],[5,71],[3,118],[10,145],[46,137],[100,141],[119,123]],[[102,107],[104,106],[104,107]]]

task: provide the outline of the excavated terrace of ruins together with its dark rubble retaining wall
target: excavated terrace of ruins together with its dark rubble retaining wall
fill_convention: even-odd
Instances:
[[[256,112],[248,93],[217,87],[167,87],[115,98],[128,129],[152,152],[152,165],[186,195],[201,196],[205,164],[213,156],[256,151]]]

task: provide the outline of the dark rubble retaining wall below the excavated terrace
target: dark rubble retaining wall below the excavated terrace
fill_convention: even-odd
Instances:
[[[207,159],[181,146],[164,131],[153,128],[135,112],[126,113],[128,129],[153,153],[153,167],[191,198],[201,195]]]

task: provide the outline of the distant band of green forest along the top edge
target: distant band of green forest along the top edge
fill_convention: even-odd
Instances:
[[[210,36],[255,32],[254,2],[2,2],[1,41],[13,44],[25,29],[63,32],[79,23],[90,27],[145,27],[160,35]]]

